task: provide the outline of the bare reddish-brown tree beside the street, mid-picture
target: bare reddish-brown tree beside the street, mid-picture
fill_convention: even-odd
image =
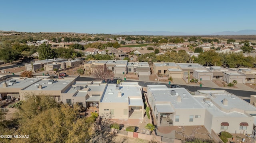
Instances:
[[[108,70],[106,66],[98,65],[92,72],[92,76],[96,80],[105,80],[107,78],[113,78],[114,74],[112,71]]]

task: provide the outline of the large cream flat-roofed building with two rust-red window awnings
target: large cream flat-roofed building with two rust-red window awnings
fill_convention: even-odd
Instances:
[[[148,102],[158,126],[204,125],[209,133],[252,133],[256,108],[225,90],[198,90],[148,85]]]

